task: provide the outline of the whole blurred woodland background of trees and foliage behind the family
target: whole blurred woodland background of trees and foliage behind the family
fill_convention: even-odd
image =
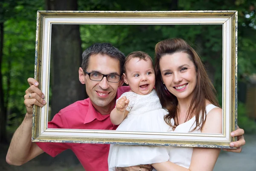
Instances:
[[[2,0],[0,2],[0,164],[2,165],[3,162],[3,169],[1,170],[23,169],[7,165],[4,158],[12,134],[26,113],[23,96],[29,87],[27,78],[34,77],[38,10],[238,11],[238,125],[246,134],[256,135],[255,7],[254,0]],[[125,55],[141,50],[148,52],[154,58],[155,44],[173,37],[183,38],[191,43],[204,61],[218,94],[221,94],[221,25],[53,26],[49,101],[51,117],[61,108],[87,97],[84,86],[78,80],[78,68],[81,65],[82,51],[92,43],[110,42]],[[218,100],[221,103],[221,96]],[[73,154],[67,152],[65,155]],[[228,153],[228,155],[233,154]],[[49,157],[48,159],[44,154],[43,157],[39,162],[40,165],[37,166],[42,169],[44,168],[42,165],[51,165],[53,162],[53,159]],[[239,155],[237,157],[239,158]],[[29,165],[33,161],[36,162],[32,160]],[[57,161],[53,162],[55,164],[64,165],[61,170],[81,169],[80,165],[76,166],[79,162],[75,157],[70,159],[57,157],[54,161]],[[67,167],[65,162],[72,166]],[[55,167],[51,170],[54,170],[53,168]]]

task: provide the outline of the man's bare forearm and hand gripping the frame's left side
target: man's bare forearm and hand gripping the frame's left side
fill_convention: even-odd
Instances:
[[[33,105],[43,107],[46,102],[43,99],[43,93],[37,87],[38,82],[34,78],[29,78],[28,82],[30,87],[26,90],[24,96],[27,113],[12,137],[6,155],[6,162],[10,165],[22,165],[44,152],[38,145],[31,142],[31,137]]]

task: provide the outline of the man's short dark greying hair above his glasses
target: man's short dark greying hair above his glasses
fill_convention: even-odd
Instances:
[[[90,47],[84,50],[82,57],[82,69],[86,70],[89,65],[89,59],[91,55],[108,55],[111,58],[118,59],[120,64],[120,75],[123,74],[123,66],[125,63],[125,55],[111,43],[94,43]]]

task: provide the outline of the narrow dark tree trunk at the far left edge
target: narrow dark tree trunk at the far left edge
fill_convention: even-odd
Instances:
[[[3,22],[0,23],[0,142],[7,142],[6,138],[6,103],[3,93]]]

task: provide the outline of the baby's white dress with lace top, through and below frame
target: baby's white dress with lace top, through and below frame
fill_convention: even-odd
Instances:
[[[167,112],[162,108],[155,90],[148,95],[126,92],[120,98],[123,96],[129,99],[126,108],[129,113],[116,130],[166,132],[169,129],[169,125],[163,119]],[[168,160],[169,152],[165,146],[110,145],[108,167],[109,171],[115,171],[115,167],[152,164]]]

